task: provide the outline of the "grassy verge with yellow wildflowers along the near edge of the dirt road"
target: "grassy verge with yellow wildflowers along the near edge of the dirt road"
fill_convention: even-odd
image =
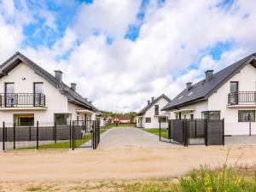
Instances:
[[[120,191],[120,192],[255,192],[256,167],[226,167],[211,170],[207,166],[180,178],[152,178],[134,181],[65,183],[51,186],[51,191]],[[46,184],[32,185],[26,191],[49,191]]]

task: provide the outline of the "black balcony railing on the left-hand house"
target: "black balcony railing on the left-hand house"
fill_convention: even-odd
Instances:
[[[0,93],[0,108],[44,108],[42,93]]]

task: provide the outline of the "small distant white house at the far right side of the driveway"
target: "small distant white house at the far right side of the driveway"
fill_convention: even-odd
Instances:
[[[160,111],[171,100],[166,95],[161,95],[151,102],[148,100],[148,105],[137,113],[137,127],[143,128],[158,128],[161,122],[162,127],[167,127],[167,114]]]

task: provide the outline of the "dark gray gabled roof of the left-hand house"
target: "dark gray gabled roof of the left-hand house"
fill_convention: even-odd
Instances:
[[[79,93],[72,90],[67,84],[58,82],[57,79],[47,71],[45,71],[42,67],[39,67],[36,63],[29,60],[25,55],[20,54],[20,52],[16,52],[15,55],[11,56],[9,60],[3,62],[0,66],[0,79],[3,78],[4,75],[7,75],[9,71],[15,68],[20,62],[26,63],[29,67],[32,67],[35,73],[49,81],[50,84],[55,86],[56,89],[61,91],[61,94],[67,96],[68,102],[73,102],[79,106],[89,108],[94,111],[98,111],[96,107],[94,107],[90,102],[87,101],[83,96],[80,96]]]

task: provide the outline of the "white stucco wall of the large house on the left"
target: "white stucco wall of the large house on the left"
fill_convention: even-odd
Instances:
[[[72,103],[67,102],[67,96],[64,96],[47,80],[34,73],[32,68],[24,63],[20,63],[12,71],[0,79],[0,92],[4,93],[4,83],[15,83],[15,93],[33,93],[33,83],[44,83],[44,95],[46,110],[20,110],[13,111],[0,110],[0,123],[3,121],[12,124],[15,113],[34,113],[35,122],[54,122],[54,113],[73,113],[72,118],[76,119],[74,109],[79,108]],[[82,108],[79,108],[82,109]]]

